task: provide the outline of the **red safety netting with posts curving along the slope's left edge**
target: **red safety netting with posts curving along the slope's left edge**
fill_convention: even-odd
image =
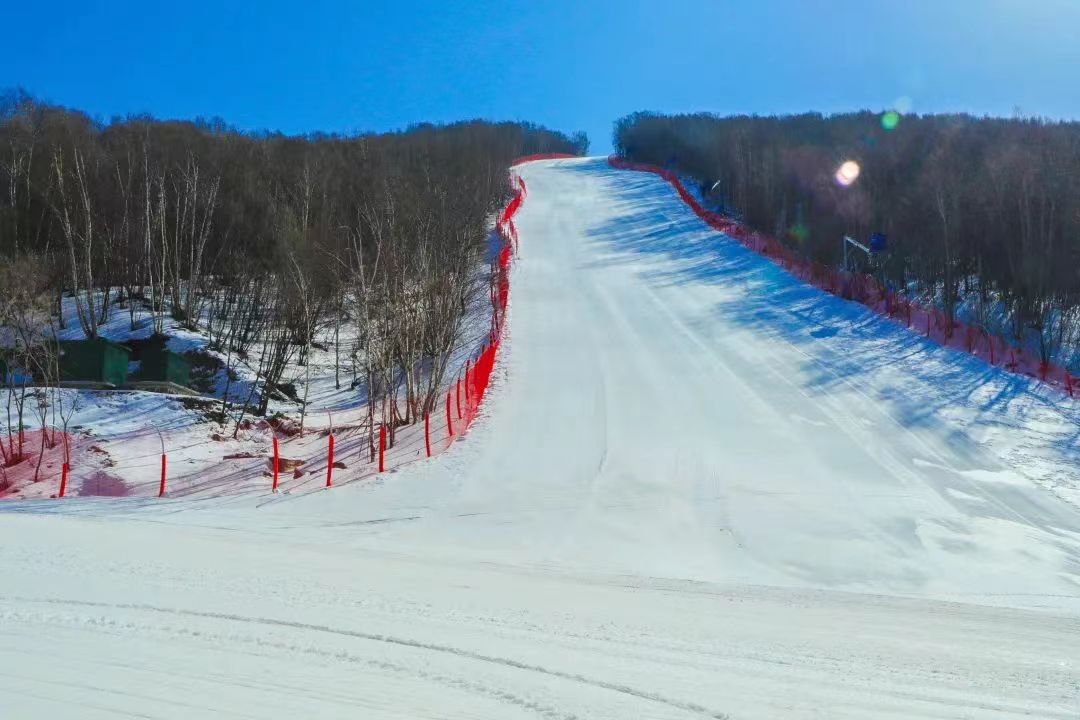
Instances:
[[[537,159],[541,158],[524,158],[514,164]],[[189,435],[175,446],[171,446],[167,435],[150,432],[71,443],[56,439],[49,444],[57,446],[53,453],[56,457],[50,456],[42,476],[42,480],[55,483],[52,497],[63,498],[72,494],[72,490],[77,494],[167,498],[279,491],[291,494],[356,483],[446,450],[475,419],[502,342],[510,299],[510,266],[517,245],[514,216],[527,194],[521,177],[511,174],[510,180],[513,196],[495,228],[500,243],[489,274],[491,320],[486,342],[465,358],[445,394],[440,394],[428,411],[404,425],[376,420],[360,425],[312,429],[302,436],[288,436],[279,432],[278,425],[260,422],[260,432],[253,431],[259,451],[229,456],[227,460],[234,458],[239,462],[210,467],[203,458],[200,468],[188,463],[192,453],[211,441],[208,438],[192,441],[194,438]],[[46,432],[45,437],[66,440],[66,435],[57,435],[56,431]],[[11,438],[2,441],[5,451],[8,444],[14,443]],[[103,461],[96,454],[102,452],[98,446],[113,441],[123,443],[125,452],[118,460]],[[173,467],[183,470],[174,472]],[[79,488],[83,491],[79,492]]]

